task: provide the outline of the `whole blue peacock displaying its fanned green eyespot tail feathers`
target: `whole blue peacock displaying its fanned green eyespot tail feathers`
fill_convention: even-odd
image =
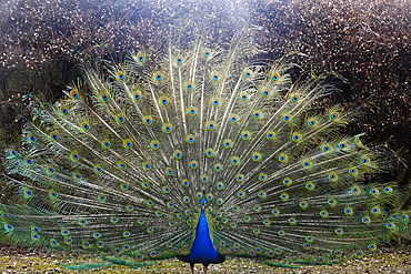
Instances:
[[[327,264],[400,236],[395,184],[363,183],[391,169],[390,151],[343,135],[358,115],[327,102],[332,81],[295,79],[251,32],[83,62],[62,100],[38,99],[3,158],[21,199],[0,205],[3,237],[206,273],[225,256]]]

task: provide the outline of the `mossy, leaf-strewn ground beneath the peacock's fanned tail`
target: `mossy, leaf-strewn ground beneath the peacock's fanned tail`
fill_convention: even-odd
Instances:
[[[46,253],[21,247],[0,245],[0,274],[7,273],[190,273],[187,263],[178,260],[158,261],[153,265],[130,268],[109,266],[87,271],[68,270],[62,264],[102,263],[99,257],[88,254]],[[196,273],[202,273],[202,266],[196,265]],[[304,265],[299,268],[272,267],[253,260],[228,257],[223,264],[210,265],[212,273],[411,273],[411,248],[380,250],[374,255],[362,260],[347,260],[333,265]]]

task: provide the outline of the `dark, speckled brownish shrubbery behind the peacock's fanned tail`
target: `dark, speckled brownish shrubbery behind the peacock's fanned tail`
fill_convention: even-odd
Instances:
[[[170,26],[200,31],[217,26],[210,38],[223,43],[244,21],[261,27],[254,31],[255,51],[270,59],[299,52],[292,62],[340,79],[341,92],[332,99],[362,113],[347,133],[364,132],[367,143],[387,143],[398,152],[398,169],[370,180],[397,181],[407,192],[399,205],[411,209],[409,1],[8,1],[0,10],[1,148],[20,144],[36,98],[61,98],[81,77],[79,62],[122,60],[137,47],[164,47]],[[0,199],[16,201],[4,182]]]

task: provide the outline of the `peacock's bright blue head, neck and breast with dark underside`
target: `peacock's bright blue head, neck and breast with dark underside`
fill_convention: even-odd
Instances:
[[[179,260],[194,265],[201,263],[204,266],[209,264],[220,264],[225,261],[224,255],[219,255],[212,245],[209,226],[204,213],[206,201],[201,201],[201,214],[196,229],[196,239],[192,243],[191,253],[187,256],[178,256]]]

